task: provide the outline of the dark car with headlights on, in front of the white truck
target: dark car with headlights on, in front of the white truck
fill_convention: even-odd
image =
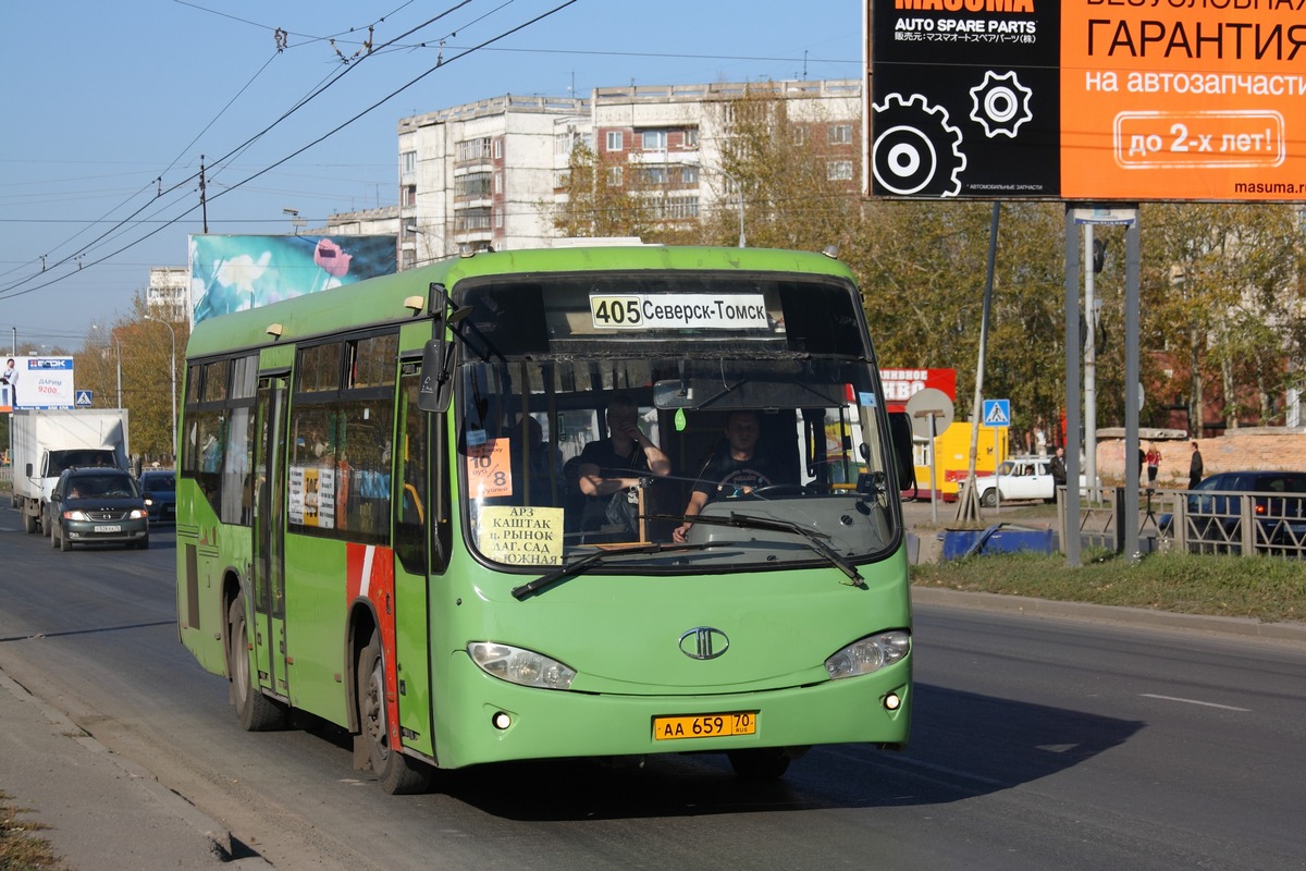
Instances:
[[[65,469],[50,495],[43,529],[50,546],[119,543],[150,546],[150,520],[131,474],[110,466]]]

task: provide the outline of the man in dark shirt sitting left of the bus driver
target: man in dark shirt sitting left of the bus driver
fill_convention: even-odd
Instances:
[[[577,471],[585,542],[629,542],[639,541],[640,478],[670,474],[671,461],[640,430],[635,400],[620,393],[607,406],[607,437],[585,445]]]

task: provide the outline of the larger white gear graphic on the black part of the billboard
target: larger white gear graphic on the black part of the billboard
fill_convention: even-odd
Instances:
[[[961,131],[948,110],[930,106],[922,94],[887,94],[875,110],[871,170],[885,191],[899,196],[955,197],[961,193]]]

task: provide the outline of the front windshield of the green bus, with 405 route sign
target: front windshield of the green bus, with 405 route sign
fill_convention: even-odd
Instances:
[[[586,273],[458,290],[460,487],[481,558],[539,572],[602,550],[605,571],[669,575],[835,559],[853,577],[897,548],[850,285]]]

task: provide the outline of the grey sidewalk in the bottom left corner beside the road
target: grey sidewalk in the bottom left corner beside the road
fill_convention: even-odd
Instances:
[[[0,671],[0,790],[73,871],[269,868],[230,833]],[[239,846],[239,845],[236,845]],[[248,850],[242,850],[248,857]]]

